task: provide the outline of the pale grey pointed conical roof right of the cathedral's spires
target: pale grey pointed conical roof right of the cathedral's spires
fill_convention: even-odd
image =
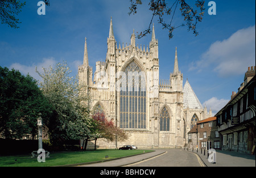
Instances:
[[[188,107],[190,109],[203,109],[203,106],[201,105],[191,85],[188,83],[188,79],[184,84],[183,92],[184,108]]]

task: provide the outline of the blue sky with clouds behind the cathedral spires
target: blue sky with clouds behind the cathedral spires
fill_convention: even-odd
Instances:
[[[118,44],[129,44],[133,29],[143,31],[151,19],[146,0],[138,6],[138,13],[130,16],[129,0],[52,0],[46,15],[37,14],[38,2],[26,3],[18,16],[20,28],[0,24],[0,66],[18,69],[36,79],[35,66],[48,67],[62,61],[67,61],[72,75],[76,75],[83,61],[85,37],[89,65],[94,71],[96,61],[106,58],[110,16]],[[157,19],[154,24],[160,79],[168,79],[173,71],[177,46],[184,83],[188,78],[201,104],[216,113],[228,102],[232,91],[237,92],[247,67],[255,66],[255,1],[214,1],[216,15],[207,13],[208,2],[203,22],[197,25],[199,36],[180,27],[169,40]],[[183,18],[176,11],[174,24],[181,23]],[[147,46],[150,40],[148,35],[136,43]]]

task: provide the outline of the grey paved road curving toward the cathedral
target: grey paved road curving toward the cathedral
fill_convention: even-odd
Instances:
[[[127,167],[203,167],[204,163],[198,155],[182,149],[163,149],[164,154]]]

